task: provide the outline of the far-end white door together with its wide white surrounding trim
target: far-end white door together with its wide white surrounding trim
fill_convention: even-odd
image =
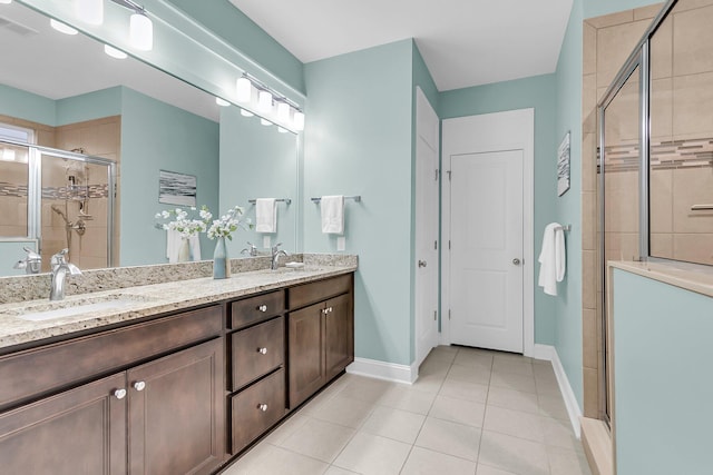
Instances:
[[[534,356],[535,110],[443,119],[441,137],[441,342]]]

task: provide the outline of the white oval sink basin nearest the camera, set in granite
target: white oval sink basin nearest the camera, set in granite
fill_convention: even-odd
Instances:
[[[6,310],[2,311],[2,314],[29,321],[43,321],[53,318],[92,314],[95,311],[121,310],[146,301],[149,301],[149,299],[140,296],[120,294],[35,304],[14,310]]]

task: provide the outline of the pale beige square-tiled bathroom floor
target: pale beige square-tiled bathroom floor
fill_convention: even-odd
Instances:
[[[342,376],[224,475],[590,475],[548,362],[443,346],[419,374]]]

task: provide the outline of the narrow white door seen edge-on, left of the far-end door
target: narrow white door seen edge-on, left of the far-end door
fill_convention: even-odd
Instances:
[[[420,88],[416,102],[416,357],[438,345],[439,119]]]

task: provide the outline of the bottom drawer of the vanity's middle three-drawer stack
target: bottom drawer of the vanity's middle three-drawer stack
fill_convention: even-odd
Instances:
[[[285,415],[285,370],[280,369],[233,396],[231,408],[231,449],[236,454]]]

